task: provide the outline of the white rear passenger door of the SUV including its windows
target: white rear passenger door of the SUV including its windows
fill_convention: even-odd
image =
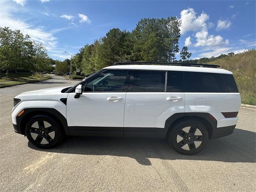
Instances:
[[[154,128],[161,131],[172,114],[184,113],[183,87],[183,72],[132,70],[125,101],[124,136]]]

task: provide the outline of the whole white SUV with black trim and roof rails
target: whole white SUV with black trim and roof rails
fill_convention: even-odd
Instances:
[[[233,132],[240,103],[232,72],[217,66],[127,62],[73,87],[19,94],[12,122],[40,148],[64,136],[153,137],[194,154]]]

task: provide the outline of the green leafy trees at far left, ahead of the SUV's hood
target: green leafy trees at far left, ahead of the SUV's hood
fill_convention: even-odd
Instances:
[[[0,71],[49,71],[52,70],[52,59],[48,57],[46,48],[23,35],[20,30],[0,27]]]

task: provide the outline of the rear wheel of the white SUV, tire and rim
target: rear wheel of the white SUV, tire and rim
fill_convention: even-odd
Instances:
[[[174,125],[168,141],[181,154],[195,154],[204,149],[208,142],[208,131],[198,120],[186,119]]]

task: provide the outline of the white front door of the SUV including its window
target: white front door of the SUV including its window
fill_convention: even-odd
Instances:
[[[123,136],[127,73],[128,70],[106,70],[83,85],[80,98],[74,98],[75,93],[68,94],[66,114],[71,135],[102,132]]]

